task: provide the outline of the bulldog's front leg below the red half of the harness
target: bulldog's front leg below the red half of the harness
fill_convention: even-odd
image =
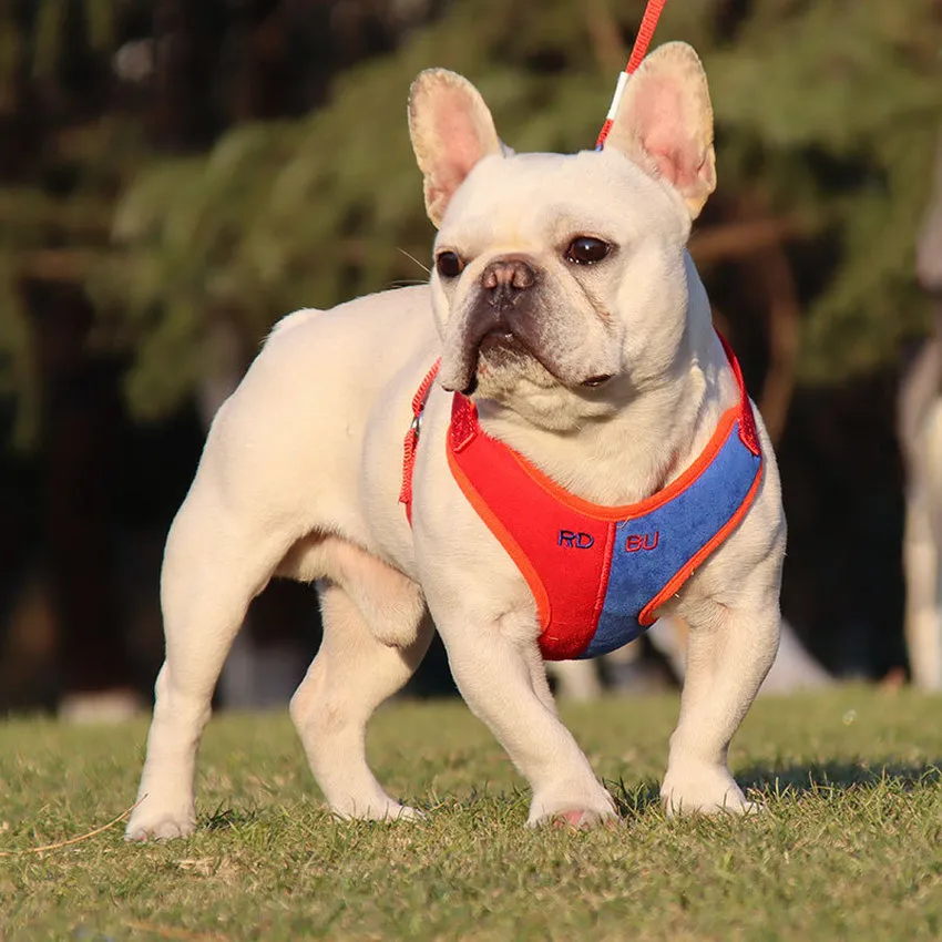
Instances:
[[[437,617],[454,680],[471,710],[506,749],[533,789],[529,823],[590,827],[615,817],[608,792],[556,716],[532,627],[508,614]],[[526,635],[530,637],[526,637]],[[542,678],[542,682],[541,682]]]

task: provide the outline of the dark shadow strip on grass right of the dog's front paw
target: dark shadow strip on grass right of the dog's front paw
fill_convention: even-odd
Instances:
[[[757,765],[740,769],[736,780],[745,789],[764,792],[802,793],[827,788],[876,787],[889,785],[911,790],[942,784],[942,758],[926,762],[786,762]]]

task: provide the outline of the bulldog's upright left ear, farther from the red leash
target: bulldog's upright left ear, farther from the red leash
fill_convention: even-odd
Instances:
[[[467,79],[447,69],[427,69],[409,93],[409,134],[426,178],[426,212],[439,226],[474,164],[502,153],[494,121]]]

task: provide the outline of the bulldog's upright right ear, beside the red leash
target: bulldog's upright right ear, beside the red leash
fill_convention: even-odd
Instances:
[[[668,42],[628,79],[605,146],[670,183],[695,219],[716,188],[706,73],[685,42]]]

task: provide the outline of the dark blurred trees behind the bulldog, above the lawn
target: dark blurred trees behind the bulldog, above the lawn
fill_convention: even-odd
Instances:
[[[414,74],[467,74],[518,150],[592,146],[643,9],[0,0],[0,706],[37,638],[64,652],[47,699],[150,680],[160,544],[221,397],[285,313],[423,280]],[[670,39],[710,81],[692,250],[777,439],[785,612],[881,676],[904,663],[893,416],[929,325],[942,6],[675,0]]]

